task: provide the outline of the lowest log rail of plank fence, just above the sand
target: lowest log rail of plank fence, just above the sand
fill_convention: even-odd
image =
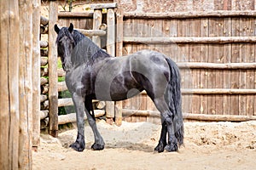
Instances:
[[[154,116],[160,117],[159,111],[134,111],[123,110],[124,116]],[[188,114],[183,113],[183,119],[191,119],[197,121],[212,121],[212,122],[244,122],[255,121],[256,116],[236,116],[236,115],[206,115],[206,114]]]

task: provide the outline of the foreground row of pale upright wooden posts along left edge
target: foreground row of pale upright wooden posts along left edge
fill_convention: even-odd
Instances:
[[[0,169],[32,169],[40,138],[40,1],[1,1],[0,11]]]

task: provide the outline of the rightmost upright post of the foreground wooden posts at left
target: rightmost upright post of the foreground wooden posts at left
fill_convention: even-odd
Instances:
[[[33,0],[32,14],[32,146],[40,143],[40,0]]]

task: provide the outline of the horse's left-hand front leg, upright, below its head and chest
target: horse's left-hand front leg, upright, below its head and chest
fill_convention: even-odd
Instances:
[[[78,136],[76,141],[73,144],[70,144],[70,147],[77,151],[83,151],[85,148],[84,142],[84,98],[74,93],[73,104],[77,116],[77,126],[78,126]]]

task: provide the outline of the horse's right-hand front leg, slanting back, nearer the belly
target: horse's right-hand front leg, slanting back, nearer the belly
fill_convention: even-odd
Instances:
[[[98,128],[96,127],[96,119],[94,115],[94,111],[92,108],[92,100],[85,98],[85,113],[89,122],[89,125],[94,134],[95,143],[92,144],[92,150],[103,150],[104,149],[104,140],[102,139],[102,135],[99,133]],[[91,114],[90,114],[91,111]]]

